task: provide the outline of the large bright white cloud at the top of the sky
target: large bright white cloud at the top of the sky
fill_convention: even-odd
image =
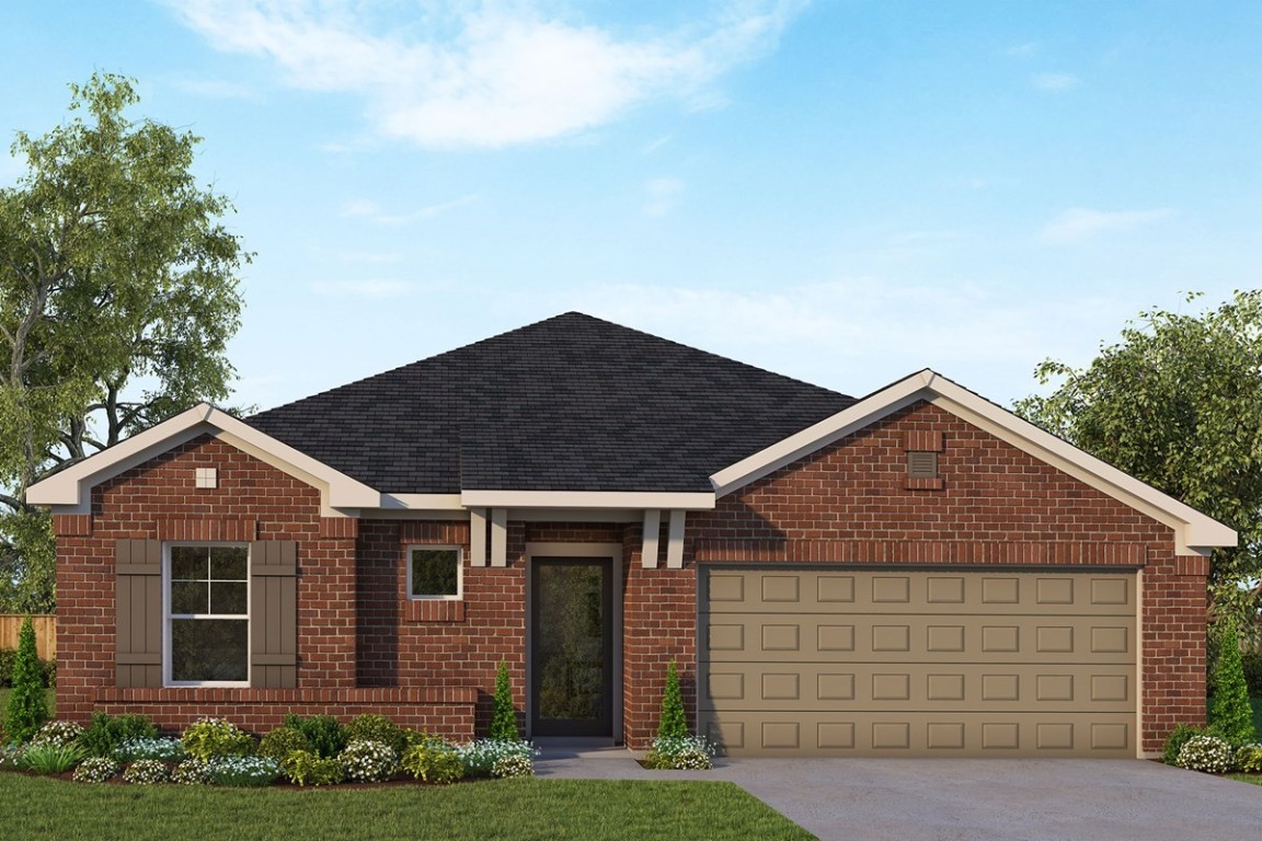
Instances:
[[[805,0],[726,0],[684,29],[635,37],[535,0],[428,0],[375,21],[352,0],[168,0],[217,49],[274,61],[290,84],[362,96],[377,132],[427,148],[546,140],[705,86],[771,48]],[[395,4],[395,8],[401,8]]]

